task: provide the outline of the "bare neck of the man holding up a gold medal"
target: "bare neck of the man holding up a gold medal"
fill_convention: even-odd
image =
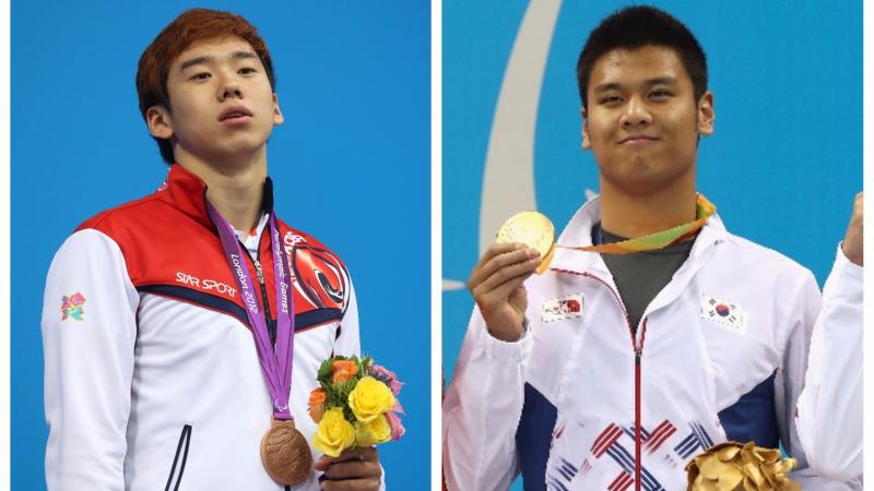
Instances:
[[[601,178],[601,226],[622,237],[642,237],[696,218],[694,177],[690,182],[648,193],[623,190]]]

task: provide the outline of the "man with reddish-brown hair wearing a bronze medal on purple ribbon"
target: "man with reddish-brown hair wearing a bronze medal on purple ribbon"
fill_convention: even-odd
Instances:
[[[263,39],[187,11],[143,52],[137,88],[170,168],[52,261],[48,489],[380,489],[374,448],[306,444],[319,364],[359,352],[358,316],[342,261],[275,216],[267,141],[283,116]],[[303,445],[262,443],[290,419]]]

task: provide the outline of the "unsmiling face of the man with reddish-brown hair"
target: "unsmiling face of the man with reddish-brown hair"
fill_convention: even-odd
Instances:
[[[172,137],[180,151],[223,161],[262,149],[282,112],[264,67],[252,47],[236,37],[191,45],[167,75],[170,109],[150,109],[152,134]]]

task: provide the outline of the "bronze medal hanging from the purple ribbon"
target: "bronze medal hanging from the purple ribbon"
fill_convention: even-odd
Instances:
[[[261,439],[261,462],[267,474],[283,486],[304,482],[312,469],[312,453],[294,420],[273,419]]]

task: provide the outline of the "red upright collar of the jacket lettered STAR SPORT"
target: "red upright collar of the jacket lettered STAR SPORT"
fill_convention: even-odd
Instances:
[[[215,229],[206,212],[206,183],[179,164],[170,166],[166,180],[155,195],[204,227]],[[273,213],[273,181],[270,178],[264,180],[264,211]]]

